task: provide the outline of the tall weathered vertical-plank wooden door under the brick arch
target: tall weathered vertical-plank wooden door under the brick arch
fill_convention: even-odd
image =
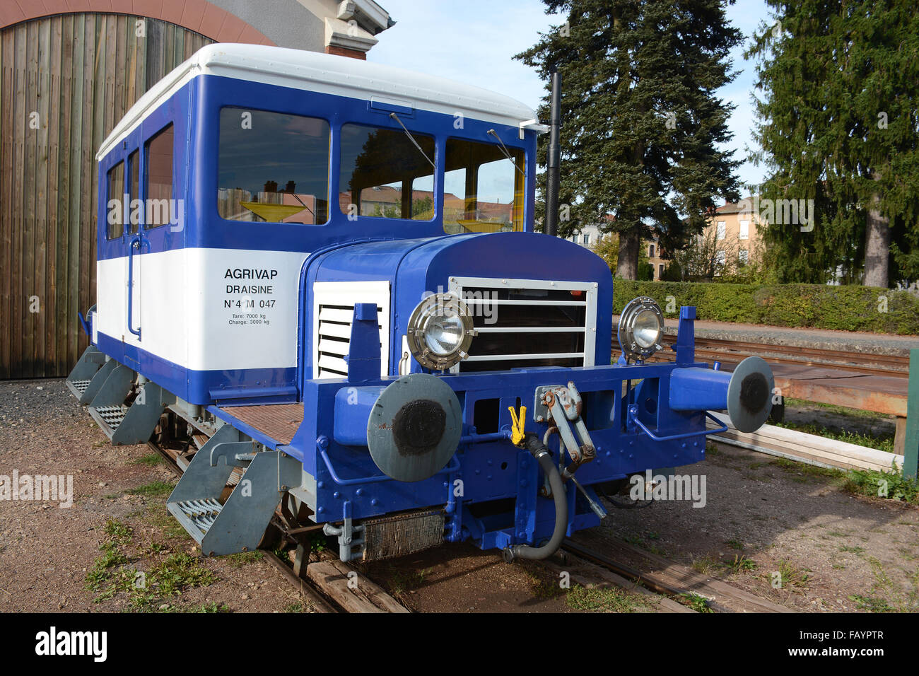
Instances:
[[[66,375],[85,349],[76,314],[96,302],[96,150],[212,41],[115,14],[0,32],[0,378]]]

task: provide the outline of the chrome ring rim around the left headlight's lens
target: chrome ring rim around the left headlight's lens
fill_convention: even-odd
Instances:
[[[427,333],[437,317],[454,315],[461,325],[457,345],[448,353],[437,354],[427,343]],[[415,361],[425,369],[446,371],[469,356],[469,347],[475,329],[472,327],[472,315],[469,306],[453,293],[433,293],[417,304],[408,320],[405,338],[408,349]]]

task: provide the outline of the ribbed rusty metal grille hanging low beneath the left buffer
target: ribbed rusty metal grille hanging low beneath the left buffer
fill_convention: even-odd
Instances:
[[[368,519],[364,524],[364,560],[405,556],[444,541],[443,510]]]

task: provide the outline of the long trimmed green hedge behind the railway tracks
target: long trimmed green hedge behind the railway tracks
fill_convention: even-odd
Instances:
[[[651,296],[667,313],[667,296],[675,306],[695,305],[700,320],[873,331],[919,335],[919,296],[868,286],[821,284],[720,284],[690,281],[613,281],[613,311],[619,313],[635,296]],[[882,312],[887,297],[887,312]]]

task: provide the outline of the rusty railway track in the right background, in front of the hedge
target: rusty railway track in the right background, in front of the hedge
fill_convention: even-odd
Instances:
[[[664,348],[654,355],[661,361],[675,361],[676,353],[669,349],[676,337],[664,336]],[[746,357],[762,357],[770,363],[825,366],[838,371],[868,373],[906,378],[909,376],[908,356],[856,352],[844,349],[805,348],[723,338],[696,338],[698,361],[742,361]]]

